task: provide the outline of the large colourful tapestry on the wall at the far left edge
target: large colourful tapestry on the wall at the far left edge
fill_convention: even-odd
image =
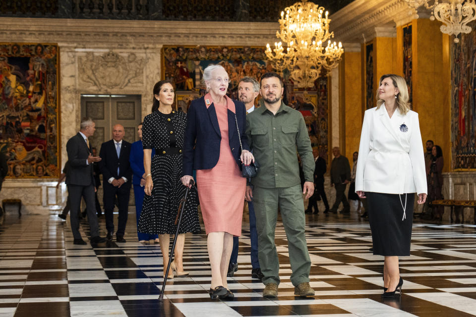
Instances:
[[[58,177],[58,45],[0,43],[0,69],[7,177]]]

